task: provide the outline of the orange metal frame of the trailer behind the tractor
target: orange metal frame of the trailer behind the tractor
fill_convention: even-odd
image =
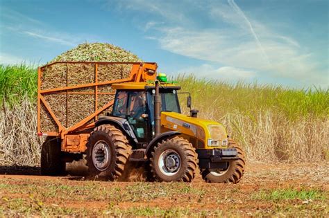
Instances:
[[[82,83],[70,86],[69,83],[62,87],[56,87],[52,89],[43,89],[42,82],[45,73],[49,67],[56,67],[57,65],[66,66],[66,81],[69,80],[69,66],[78,64],[79,67],[92,66],[93,71],[88,72],[92,74],[94,82]],[[130,74],[128,78],[123,78],[124,75],[121,73],[121,78],[118,80],[105,80],[99,81],[99,66],[129,66]],[[62,152],[85,152],[87,138],[90,136],[90,131],[97,120],[97,117],[106,109],[113,105],[113,100],[109,100],[105,105],[99,108],[99,96],[106,95],[109,98],[113,98],[115,92],[101,92],[99,87],[111,87],[112,84],[118,84],[122,82],[147,82],[154,81],[156,77],[156,63],[151,62],[53,62],[37,69],[38,82],[37,82],[37,135],[38,136],[56,136],[61,138],[61,150]],[[51,76],[51,75],[50,75]],[[81,89],[93,89],[93,91],[76,91]],[[56,95],[84,95],[94,96],[94,110],[81,120],[76,120],[74,125],[67,126],[60,122],[58,119],[59,114],[54,113],[55,107],[58,105],[51,105],[47,102],[45,96],[56,96]],[[63,105],[62,105],[63,106]],[[60,113],[66,113],[66,117],[69,117],[68,111],[72,105],[66,100],[66,109],[60,111]],[[42,119],[45,119],[43,114],[48,114],[54,125],[56,125],[57,131],[43,131]]]

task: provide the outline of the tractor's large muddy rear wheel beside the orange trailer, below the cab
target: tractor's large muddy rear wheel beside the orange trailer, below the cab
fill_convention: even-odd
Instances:
[[[89,176],[114,181],[123,174],[132,149],[119,129],[101,125],[90,134],[86,153]]]

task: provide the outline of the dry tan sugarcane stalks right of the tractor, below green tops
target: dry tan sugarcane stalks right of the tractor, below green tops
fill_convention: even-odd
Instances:
[[[228,113],[221,119],[246,150],[249,159],[257,161],[321,161],[329,149],[329,123],[319,118],[287,120],[273,111],[255,114]]]

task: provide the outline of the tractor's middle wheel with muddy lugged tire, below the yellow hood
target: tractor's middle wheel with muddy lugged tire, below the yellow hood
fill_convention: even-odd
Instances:
[[[171,139],[162,140],[161,143],[155,146],[151,154],[151,172],[156,181],[190,182],[194,179],[198,158],[194,147],[186,139],[176,136]],[[171,162],[174,164],[173,167],[167,167],[165,165],[160,167],[159,163],[165,163],[165,160],[163,160],[165,157],[171,158],[171,160],[176,160],[178,158],[180,164],[178,164],[176,160],[174,163]],[[170,170],[174,171],[169,172]]]

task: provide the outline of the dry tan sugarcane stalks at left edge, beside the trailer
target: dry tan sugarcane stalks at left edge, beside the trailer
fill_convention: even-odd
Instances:
[[[42,138],[36,134],[37,114],[33,103],[24,98],[10,109],[0,110],[0,163],[6,165],[37,165]]]

